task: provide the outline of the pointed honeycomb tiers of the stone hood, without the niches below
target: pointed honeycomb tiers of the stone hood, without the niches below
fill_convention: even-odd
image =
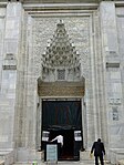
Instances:
[[[54,68],[80,68],[80,54],[69,39],[64,23],[60,20],[53,38],[48,43],[46,51],[42,54],[43,66]]]

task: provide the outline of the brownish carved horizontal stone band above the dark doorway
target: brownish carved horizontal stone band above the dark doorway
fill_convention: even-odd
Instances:
[[[40,96],[84,96],[83,82],[42,82],[38,85]]]

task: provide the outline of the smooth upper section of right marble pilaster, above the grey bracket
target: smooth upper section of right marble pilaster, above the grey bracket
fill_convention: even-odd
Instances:
[[[100,7],[105,51],[113,51],[118,54],[115,4],[112,2],[102,1]]]

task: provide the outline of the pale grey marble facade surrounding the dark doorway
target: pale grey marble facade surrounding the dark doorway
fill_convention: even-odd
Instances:
[[[64,28],[58,32],[60,20]],[[59,35],[62,34],[62,45],[58,45],[58,42],[61,42]],[[59,47],[70,50],[64,50],[66,55],[60,61],[58,55],[54,55],[55,50],[56,54],[61,54]],[[108,159],[114,164],[122,159],[123,55],[123,1],[91,0],[85,3],[76,0],[65,3],[52,0],[1,0],[1,155],[10,152],[16,161],[27,161],[28,154],[35,158],[35,151],[41,145],[42,100],[80,99],[85,149],[89,151],[93,141],[101,137],[105,143]],[[58,82],[58,70],[65,70],[64,82],[72,84],[70,86],[61,81],[61,90],[59,85],[56,89],[62,91],[62,94],[59,95],[60,91],[54,89],[52,94],[49,94],[46,83],[50,90],[52,84]],[[62,72],[60,75],[63,78]],[[64,86],[68,89],[65,93]]]

